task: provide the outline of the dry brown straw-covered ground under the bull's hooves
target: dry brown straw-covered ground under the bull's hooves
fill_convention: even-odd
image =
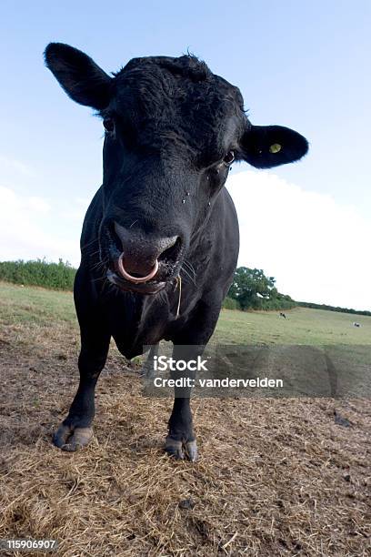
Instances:
[[[371,554],[367,400],[195,400],[200,460],[176,462],[162,451],[171,401],[145,399],[114,349],[95,439],[64,453],[50,440],[77,329],[25,306],[0,334],[0,538],[56,539],[68,557]]]

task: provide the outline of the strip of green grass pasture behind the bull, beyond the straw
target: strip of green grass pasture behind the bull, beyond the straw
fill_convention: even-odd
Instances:
[[[286,311],[232,311],[224,309],[213,341],[224,344],[371,345],[371,317],[322,309]],[[361,327],[357,329],[353,322]],[[40,327],[67,323],[77,328],[70,292],[20,287],[0,282],[0,324],[33,324]]]

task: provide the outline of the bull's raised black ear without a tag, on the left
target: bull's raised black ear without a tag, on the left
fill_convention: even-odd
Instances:
[[[50,43],[44,56],[46,66],[76,103],[97,110],[108,106],[113,78],[92,58],[63,43]]]

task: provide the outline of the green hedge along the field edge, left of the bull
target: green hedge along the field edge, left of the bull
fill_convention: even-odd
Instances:
[[[0,261],[0,279],[45,289],[72,290],[75,272],[75,268],[62,259],[58,263],[48,263],[45,259]]]

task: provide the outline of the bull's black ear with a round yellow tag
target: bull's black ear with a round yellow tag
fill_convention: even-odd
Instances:
[[[240,142],[242,157],[256,168],[271,168],[306,155],[308,142],[293,129],[282,126],[251,126]]]

